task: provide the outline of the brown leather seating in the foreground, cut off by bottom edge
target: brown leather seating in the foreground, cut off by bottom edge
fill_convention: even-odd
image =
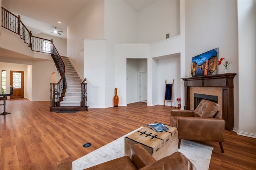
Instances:
[[[57,170],[71,170],[72,162],[58,165]],[[160,160],[155,160],[140,144],[131,146],[131,158],[123,156],[92,166],[86,170],[196,170],[194,165],[182,153],[175,152]]]

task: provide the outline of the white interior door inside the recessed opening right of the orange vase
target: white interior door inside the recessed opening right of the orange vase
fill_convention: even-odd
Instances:
[[[148,73],[140,72],[140,102],[148,100]]]

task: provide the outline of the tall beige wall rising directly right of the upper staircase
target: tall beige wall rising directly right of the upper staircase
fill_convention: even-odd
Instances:
[[[84,39],[104,39],[104,0],[88,0],[67,28],[68,57],[82,79],[84,75]]]

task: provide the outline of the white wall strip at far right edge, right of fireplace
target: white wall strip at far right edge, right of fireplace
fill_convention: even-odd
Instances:
[[[256,138],[256,1],[238,0],[238,134]]]

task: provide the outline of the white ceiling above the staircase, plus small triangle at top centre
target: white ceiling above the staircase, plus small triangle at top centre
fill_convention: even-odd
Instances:
[[[138,12],[158,0],[123,1]],[[44,33],[63,39],[67,39],[68,21],[87,3],[88,0],[2,0],[2,6],[15,15],[20,15],[21,21],[32,31],[32,35]],[[63,33],[52,33],[54,27]]]

